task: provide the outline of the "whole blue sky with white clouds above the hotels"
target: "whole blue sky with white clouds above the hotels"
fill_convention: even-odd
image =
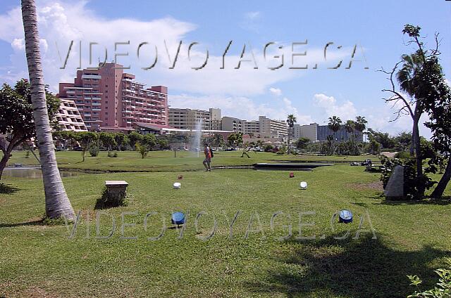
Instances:
[[[451,72],[451,1],[47,1],[38,0],[39,30],[42,39],[44,71],[47,83],[56,91],[58,82],[69,81],[75,74],[78,49],[70,56],[66,70],[60,70],[58,48],[65,55],[70,40],[82,41],[82,66],[88,64],[89,41],[97,41],[108,48],[111,59],[115,41],[128,41],[123,46],[130,57],[120,60],[130,64],[130,72],[149,85],[166,84],[170,104],[187,108],[222,108],[223,115],[255,119],[258,115],[283,119],[288,113],[297,115],[299,123],[323,124],[331,115],[343,120],[356,115],[369,119],[369,126],[390,134],[408,131],[411,122],[403,117],[397,122],[393,110],[382,98],[381,89],[388,87],[381,67],[393,67],[402,53],[412,52],[402,35],[404,24],[422,27],[425,40],[433,46],[434,32],[440,32],[442,65],[445,74]],[[20,1],[2,1],[0,8],[0,79],[11,84],[26,76],[23,31],[20,23]],[[178,41],[183,41],[175,69],[170,70],[166,48],[174,56]],[[228,42],[233,40],[226,55],[225,70],[221,70],[221,56]],[[292,42],[308,41],[295,51],[307,51],[296,57],[295,64],[308,64],[307,70],[291,70]],[[136,58],[137,45],[147,41],[158,48],[158,63],[152,70],[143,71]],[[187,58],[187,45],[199,42]],[[277,42],[283,46],[284,66],[268,70],[263,58],[264,45]],[[328,60],[323,48],[328,42]],[[240,60],[243,45],[245,58],[249,49],[256,57],[253,63]],[[346,70],[354,44],[358,45],[357,59]],[[340,50],[337,46],[342,46]],[[61,48],[60,48],[61,47]],[[150,48],[150,47],[149,47]],[[147,48],[147,49],[149,49]],[[205,49],[209,60],[202,70],[191,66],[202,64]],[[276,48],[268,53],[275,54]],[[120,51],[118,51],[120,52]],[[94,57],[101,56],[94,51]],[[151,61],[152,51],[142,56]],[[97,56],[96,56],[97,55]],[[269,55],[271,56],[271,55]],[[97,62],[97,59],[94,59]],[[342,60],[337,70],[327,67]],[[270,60],[276,63],[278,60]],[[317,63],[318,69],[312,69]],[[149,64],[149,63],[148,63]],[[369,67],[365,70],[364,67]],[[427,129],[422,129],[428,136]]]

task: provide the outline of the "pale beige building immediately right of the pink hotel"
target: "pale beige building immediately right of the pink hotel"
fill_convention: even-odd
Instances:
[[[221,129],[221,109],[206,110],[169,108],[168,124],[176,129],[196,129],[202,119],[202,129]]]

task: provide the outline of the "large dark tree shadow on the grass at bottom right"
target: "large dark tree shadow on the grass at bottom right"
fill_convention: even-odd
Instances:
[[[279,257],[266,278],[247,287],[253,292],[283,293],[287,297],[407,297],[414,292],[407,275],[419,275],[422,289],[432,288],[437,276],[428,263],[451,252],[425,246],[402,252],[371,236],[359,240],[326,238],[295,243],[295,250]]]

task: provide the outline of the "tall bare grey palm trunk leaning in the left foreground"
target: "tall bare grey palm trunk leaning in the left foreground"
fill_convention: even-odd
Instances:
[[[39,150],[44,181],[45,212],[55,219],[61,216],[73,219],[74,212],[61,181],[56,164],[54,142],[51,136],[47,101],[45,97],[44,76],[42,74],[39,34],[37,32],[37,13],[35,0],[22,0],[22,19],[25,32],[25,53],[30,76],[31,101],[35,119],[37,148]]]

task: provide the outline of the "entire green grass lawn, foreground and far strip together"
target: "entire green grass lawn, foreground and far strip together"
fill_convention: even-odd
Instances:
[[[296,171],[290,179],[288,171],[183,171],[199,169],[202,160],[174,159],[171,153],[151,153],[144,160],[137,153],[119,153],[116,159],[87,157],[80,164],[76,164],[80,153],[73,154],[58,153],[62,167],[108,169],[113,164],[113,169],[123,171],[135,167],[159,172],[81,173],[64,178],[74,209],[82,211],[73,239],[68,239],[70,230],[64,225],[39,224],[44,214],[41,179],[4,177],[0,297],[406,297],[414,291],[408,274],[418,274],[425,287],[433,287],[433,269],[451,256],[450,205],[385,202],[379,175],[364,172],[363,167],[336,164]],[[22,155],[15,153],[12,162],[32,162]],[[241,159],[237,153],[218,153],[214,164],[288,158],[251,156]],[[182,188],[174,190],[179,174],[183,174]],[[97,239],[94,205],[105,180],[128,181],[130,204],[103,210],[113,216],[116,229],[111,238]],[[299,190],[300,181],[307,181],[309,188]],[[340,209],[354,212],[354,222],[331,228],[330,218]],[[181,230],[172,228],[170,221],[175,211],[189,214],[181,238]],[[194,222],[202,211],[207,214],[199,217],[196,231]],[[230,238],[230,222],[238,211]],[[276,216],[271,229],[271,216],[280,211],[283,214]],[[124,236],[137,239],[121,238],[122,212],[136,212],[125,216],[126,223],[136,226],[126,226]],[[148,212],[158,214],[149,217],[144,231]],[[299,220],[299,212],[314,214]],[[372,239],[366,214],[377,239]],[[353,239],[359,216],[364,216],[363,229]],[[215,218],[215,235],[199,240],[209,235]],[[148,240],[161,233],[162,221],[168,226],[163,236]],[[302,235],[316,239],[297,239],[299,221],[314,222],[302,226]],[[288,234],[289,225],[292,237],[276,240]],[[348,238],[334,239],[348,229]],[[101,216],[100,235],[110,230],[111,218]]]

